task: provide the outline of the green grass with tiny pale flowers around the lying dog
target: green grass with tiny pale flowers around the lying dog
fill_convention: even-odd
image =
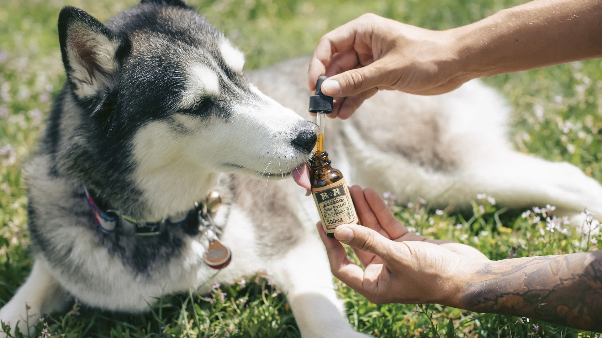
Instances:
[[[432,29],[479,20],[505,0],[205,0],[190,4],[246,52],[247,69],[309,54],[318,38],[372,11]],[[21,168],[35,150],[52,96],[63,81],[56,21],[64,4],[106,20],[128,1],[2,0],[0,3],[0,306],[31,268],[26,198]],[[512,141],[522,152],[568,161],[602,181],[602,62],[592,60],[542,70],[495,76],[514,108]],[[486,114],[487,112],[483,112]],[[436,212],[421,203],[394,207],[406,226],[432,238],[479,248],[491,259],[597,250],[600,235],[549,232],[545,218],[521,216],[475,197],[473,212]],[[594,334],[523,318],[483,315],[431,304],[374,305],[337,283],[349,321],[381,337],[593,337]],[[417,310],[417,311],[416,311]],[[44,337],[298,337],[286,299],[267,280],[238,281],[209,295],[161,300],[147,315],[85,309],[46,316]]]

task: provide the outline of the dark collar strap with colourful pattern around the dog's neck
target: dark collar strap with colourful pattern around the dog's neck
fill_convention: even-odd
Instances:
[[[189,210],[187,213],[182,213],[178,217],[164,218],[157,222],[141,222],[137,221],[132,217],[122,215],[119,210],[102,210],[95,203],[94,198],[85,188],[85,197],[88,201],[88,206],[94,214],[96,224],[99,229],[104,233],[113,233],[117,229],[125,235],[137,235],[137,236],[156,236],[163,233],[167,226],[182,226],[187,224],[189,217],[192,218],[197,224],[199,222],[199,211],[202,210],[202,203],[196,204],[194,209]]]

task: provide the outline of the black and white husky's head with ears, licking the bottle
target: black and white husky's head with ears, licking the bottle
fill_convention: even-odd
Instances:
[[[65,7],[58,31],[81,144],[151,207],[190,204],[219,172],[284,177],[308,160],[315,124],[255,88],[243,54],[183,2],[143,0],[106,25]]]

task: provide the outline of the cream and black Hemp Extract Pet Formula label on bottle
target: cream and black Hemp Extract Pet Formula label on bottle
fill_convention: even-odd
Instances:
[[[312,188],[311,192],[325,232],[333,233],[341,224],[358,223],[358,215],[344,178],[321,188]]]

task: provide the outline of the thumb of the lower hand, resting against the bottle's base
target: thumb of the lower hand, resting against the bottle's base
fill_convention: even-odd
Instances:
[[[335,238],[352,248],[368,251],[383,260],[394,258],[396,242],[376,231],[358,224],[345,224],[335,229]]]

